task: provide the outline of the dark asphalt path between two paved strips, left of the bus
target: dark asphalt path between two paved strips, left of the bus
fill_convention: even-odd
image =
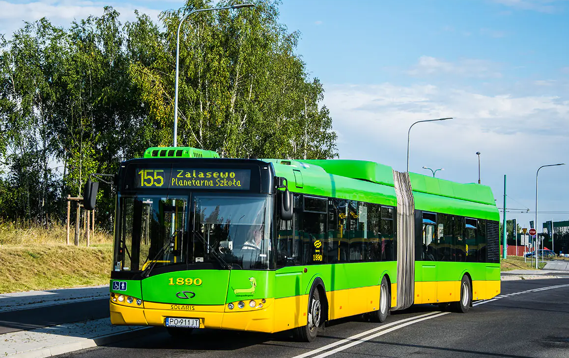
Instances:
[[[0,335],[39,327],[108,317],[109,298],[0,312]]]

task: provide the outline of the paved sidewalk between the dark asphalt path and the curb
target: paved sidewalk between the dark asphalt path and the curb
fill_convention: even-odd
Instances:
[[[148,327],[113,326],[108,318],[18,331],[0,336],[0,356],[40,358],[78,351],[141,335]]]

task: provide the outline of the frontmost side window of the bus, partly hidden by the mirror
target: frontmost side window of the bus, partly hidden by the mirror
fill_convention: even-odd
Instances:
[[[292,220],[277,219],[277,267],[302,265],[302,242],[299,236],[300,197],[293,196]]]

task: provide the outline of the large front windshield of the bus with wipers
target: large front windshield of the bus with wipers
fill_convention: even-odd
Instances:
[[[207,263],[269,268],[269,195],[119,196],[118,204],[116,271]]]

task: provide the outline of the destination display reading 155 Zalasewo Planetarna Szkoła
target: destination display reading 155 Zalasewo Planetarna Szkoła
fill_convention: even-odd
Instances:
[[[136,168],[135,187],[249,190],[250,169]]]

